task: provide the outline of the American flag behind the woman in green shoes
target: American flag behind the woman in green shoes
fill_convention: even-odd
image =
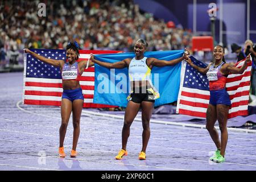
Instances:
[[[191,56],[193,64],[206,68],[207,65]],[[240,68],[244,60],[234,66]],[[228,75],[226,90],[229,94],[232,106],[229,109],[228,118],[238,115],[247,115],[250,90],[251,63],[247,64],[246,70],[240,74]],[[176,113],[192,115],[195,117],[206,117],[209,105],[210,92],[209,81],[206,75],[199,73],[189,64],[184,63],[181,68],[181,85],[177,100]]]

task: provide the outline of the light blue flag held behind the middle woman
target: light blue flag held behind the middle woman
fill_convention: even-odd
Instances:
[[[145,52],[146,57],[158,60],[174,60],[183,55],[184,50]],[[95,55],[95,59],[115,63],[127,58],[133,58],[133,52]],[[127,106],[130,82],[128,69],[108,69],[95,64],[94,98],[93,103],[113,106]],[[160,98],[155,100],[155,106],[177,101],[180,86],[181,62],[167,67],[153,67],[151,81],[158,90]]]

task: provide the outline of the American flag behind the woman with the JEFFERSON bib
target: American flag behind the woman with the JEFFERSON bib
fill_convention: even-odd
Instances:
[[[48,59],[66,60],[65,49],[31,49]],[[78,61],[88,60],[90,53],[117,53],[119,51],[80,50]],[[84,94],[84,107],[114,107],[110,105],[93,104],[94,67],[85,69],[80,85]],[[43,63],[34,56],[24,53],[23,104],[28,105],[61,105],[63,92],[60,68]]]

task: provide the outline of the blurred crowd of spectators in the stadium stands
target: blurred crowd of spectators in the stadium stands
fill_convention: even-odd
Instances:
[[[24,47],[62,49],[71,40],[81,49],[125,52],[139,38],[147,40],[148,51],[191,47],[190,30],[170,27],[130,0],[43,2],[45,17],[38,16],[40,1],[0,2],[0,67],[22,60]]]

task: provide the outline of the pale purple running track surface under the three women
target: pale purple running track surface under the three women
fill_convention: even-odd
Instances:
[[[84,113],[79,156],[69,157],[73,131],[69,121],[64,142],[67,157],[60,159],[60,108],[20,104],[23,73],[1,73],[0,84],[1,170],[256,170],[256,134],[229,131],[226,162],[216,164],[208,160],[216,147],[206,129],[158,123],[151,123],[147,160],[138,160],[142,147],[142,123],[138,121],[131,125],[128,155],[115,160],[121,148],[122,119]]]

